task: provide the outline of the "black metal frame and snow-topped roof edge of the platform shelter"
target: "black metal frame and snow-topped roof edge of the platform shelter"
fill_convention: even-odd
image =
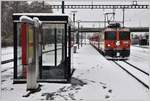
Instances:
[[[52,15],[51,14],[45,14],[45,15],[38,15],[38,13],[14,13],[13,14],[13,29],[14,29],[14,83],[24,83],[26,82],[26,79],[22,78],[18,78],[18,53],[17,53],[17,49],[18,49],[18,37],[17,37],[17,24],[20,23],[19,21],[19,17],[22,15],[27,15],[31,18],[33,17],[38,17],[43,23],[42,24],[63,24],[64,25],[64,35],[65,35],[65,39],[64,39],[64,59],[65,61],[63,62],[62,65],[64,65],[65,67],[62,67],[64,69],[64,79],[47,79],[47,78],[42,78],[42,68],[45,68],[42,65],[42,56],[41,55],[39,57],[39,78],[38,78],[38,82],[70,82],[71,79],[71,70],[72,70],[72,65],[71,65],[71,27],[72,26],[72,22],[70,20],[70,18],[67,15]],[[57,64],[57,34],[56,34],[57,29],[54,29],[54,38],[55,38],[55,48],[53,51],[55,51],[55,68],[56,68],[56,64]],[[43,43],[40,43],[43,45]],[[42,52],[42,51],[41,51]],[[43,52],[41,54],[44,54]],[[21,59],[21,57],[19,57],[19,59]],[[50,68],[50,66],[49,66]]]

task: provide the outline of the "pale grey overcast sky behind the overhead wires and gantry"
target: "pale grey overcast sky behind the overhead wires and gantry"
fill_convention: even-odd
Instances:
[[[62,0],[52,0],[50,4],[61,4]],[[64,0],[65,4],[132,4],[135,0]],[[103,1],[103,2],[99,2]],[[105,1],[105,2],[104,2]],[[107,1],[107,2],[106,2]],[[109,2],[108,2],[109,1]],[[113,1],[113,2],[112,2]],[[119,2],[122,1],[122,2]],[[127,2],[128,1],[128,2]],[[149,0],[137,0],[138,4],[148,4]],[[105,12],[112,12],[113,10],[103,10],[103,9],[65,9],[65,14],[68,14],[72,18],[71,11],[77,11],[76,20],[96,20],[102,21],[104,20]],[[61,9],[54,10],[55,13],[61,13]],[[115,20],[122,21],[122,10],[115,10]],[[149,10],[144,9],[136,9],[136,10],[125,10],[125,26],[131,27],[139,27],[139,26],[149,26],[149,18],[150,18]],[[102,24],[84,24],[83,26],[94,26],[99,27],[103,26]]]

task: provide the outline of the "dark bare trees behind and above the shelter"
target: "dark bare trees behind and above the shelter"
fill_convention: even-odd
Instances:
[[[13,45],[13,13],[52,13],[49,4],[39,1],[2,1],[1,11],[2,47]]]

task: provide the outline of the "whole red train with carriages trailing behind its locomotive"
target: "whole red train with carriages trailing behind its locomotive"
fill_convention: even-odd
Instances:
[[[127,59],[130,55],[130,30],[120,27],[119,23],[110,24],[101,33],[95,33],[89,40],[107,59]]]

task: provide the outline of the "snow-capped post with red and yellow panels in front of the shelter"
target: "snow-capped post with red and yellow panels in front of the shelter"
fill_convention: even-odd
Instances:
[[[40,29],[41,22],[37,17],[32,19],[27,16],[21,16],[20,21],[22,35],[23,76],[27,79],[27,90],[35,91],[38,89],[38,31]]]

